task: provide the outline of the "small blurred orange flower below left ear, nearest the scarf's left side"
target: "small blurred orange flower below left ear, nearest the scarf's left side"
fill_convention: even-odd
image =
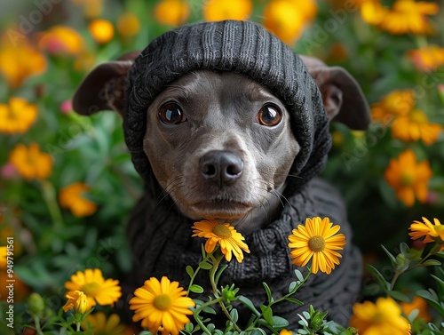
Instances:
[[[91,215],[97,211],[97,205],[82,196],[84,192],[89,190],[90,187],[81,182],[63,187],[59,193],[60,206],[72,211],[77,218]]]

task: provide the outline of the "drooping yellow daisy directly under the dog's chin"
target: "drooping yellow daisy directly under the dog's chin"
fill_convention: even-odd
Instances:
[[[202,219],[194,222],[192,237],[205,237],[205,251],[211,253],[217,244],[227,261],[232,259],[232,252],[239,263],[242,262],[243,252],[250,252],[249,247],[243,241],[245,238],[238,233],[229,223],[220,224],[216,219]]]

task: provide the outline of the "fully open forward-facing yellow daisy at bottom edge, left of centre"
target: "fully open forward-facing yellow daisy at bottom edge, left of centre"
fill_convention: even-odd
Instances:
[[[134,295],[130,300],[130,309],[135,311],[132,321],[142,320],[142,327],[154,334],[161,331],[163,335],[178,335],[190,322],[186,315],[193,314],[190,307],[195,303],[178,282],[170,282],[165,276],[160,282],[151,277]]]

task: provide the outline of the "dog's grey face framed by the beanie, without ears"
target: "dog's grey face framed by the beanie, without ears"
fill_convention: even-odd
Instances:
[[[265,86],[201,70],[168,85],[150,105],[144,150],[179,211],[190,219],[235,219],[245,231],[264,223],[255,217],[272,219],[299,147],[289,113]]]

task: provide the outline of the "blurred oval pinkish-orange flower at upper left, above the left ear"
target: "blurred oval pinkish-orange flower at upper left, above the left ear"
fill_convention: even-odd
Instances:
[[[77,55],[83,51],[83,38],[73,28],[53,26],[39,34],[38,45],[51,53]]]

